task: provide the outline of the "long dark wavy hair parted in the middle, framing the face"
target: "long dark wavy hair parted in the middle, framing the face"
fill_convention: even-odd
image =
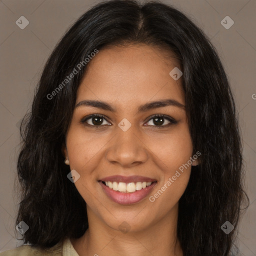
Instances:
[[[242,202],[248,199],[234,100],[207,36],[182,12],[157,1],[95,5],[70,27],[48,58],[20,129],[17,170],[22,193],[16,224],[23,220],[29,226],[24,242],[47,248],[66,237],[78,238],[88,228],[86,203],[66,177],[70,169],[61,146],[86,58],[104,45],[129,43],[168,48],[183,72],[189,130],[194,151],[201,153],[179,200],[177,235],[184,256],[229,255]],[[74,68],[77,72],[67,79]],[[229,234],[221,229],[225,221],[234,226]]]

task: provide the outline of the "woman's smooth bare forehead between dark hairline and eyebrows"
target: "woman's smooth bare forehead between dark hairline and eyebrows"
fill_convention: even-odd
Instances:
[[[118,105],[171,97],[184,103],[182,77],[169,75],[174,67],[180,69],[172,55],[146,44],[104,47],[87,64],[76,102],[97,99]]]

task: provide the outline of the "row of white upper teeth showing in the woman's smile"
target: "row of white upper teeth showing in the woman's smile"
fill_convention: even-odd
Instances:
[[[124,183],[124,182],[119,182],[117,183],[116,181],[111,182],[111,181],[105,181],[106,186],[109,188],[119,191],[119,192],[126,192],[126,193],[132,193],[135,192],[136,190],[141,190],[142,188],[145,188],[147,186],[150,186],[152,182],[130,182],[130,183]]]

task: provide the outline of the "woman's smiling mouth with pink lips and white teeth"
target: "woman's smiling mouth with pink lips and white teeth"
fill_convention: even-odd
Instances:
[[[133,204],[144,199],[157,183],[142,176],[109,176],[98,180],[105,194],[119,204]]]

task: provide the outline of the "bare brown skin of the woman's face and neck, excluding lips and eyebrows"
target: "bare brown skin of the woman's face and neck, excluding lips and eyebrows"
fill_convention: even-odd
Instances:
[[[185,104],[181,78],[169,72],[179,67],[171,52],[145,44],[109,46],[100,49],[88,63],[77,90],[76,104],[85,99],[101,100],[116,112],[81,105],[73,111],[63,154],[70,170],[80,178],[75,186],[87,203],[89,228],[83,236],[71,239],[79,256],[85,255],[170,255],[182,256],[177,239],[178,200],[190,176],[191,166],[155,199],[153,195],[192,156],[193,146],[184,108],[164,106],[136,113],[139,105],[161,99]],[[180,69],[180,67],[179,67]],[[100,127],[81,122],[89,114],[102,114]],[[150,119],[165,114],[177,123]],[[123,131],[118,123],[126,118],[131,126]],[[86,122],[85,122],[86,123]],[[110,125],[107,125],[110,124]],[[97,126],[99,126],[97,125]],[[192,165],[196,165],[197,160]],[[138,203],[113,202],[99,185],[110,175],[141,175],[157,181],[148,196]],[[128,232],[119,230],[126,221]]]

